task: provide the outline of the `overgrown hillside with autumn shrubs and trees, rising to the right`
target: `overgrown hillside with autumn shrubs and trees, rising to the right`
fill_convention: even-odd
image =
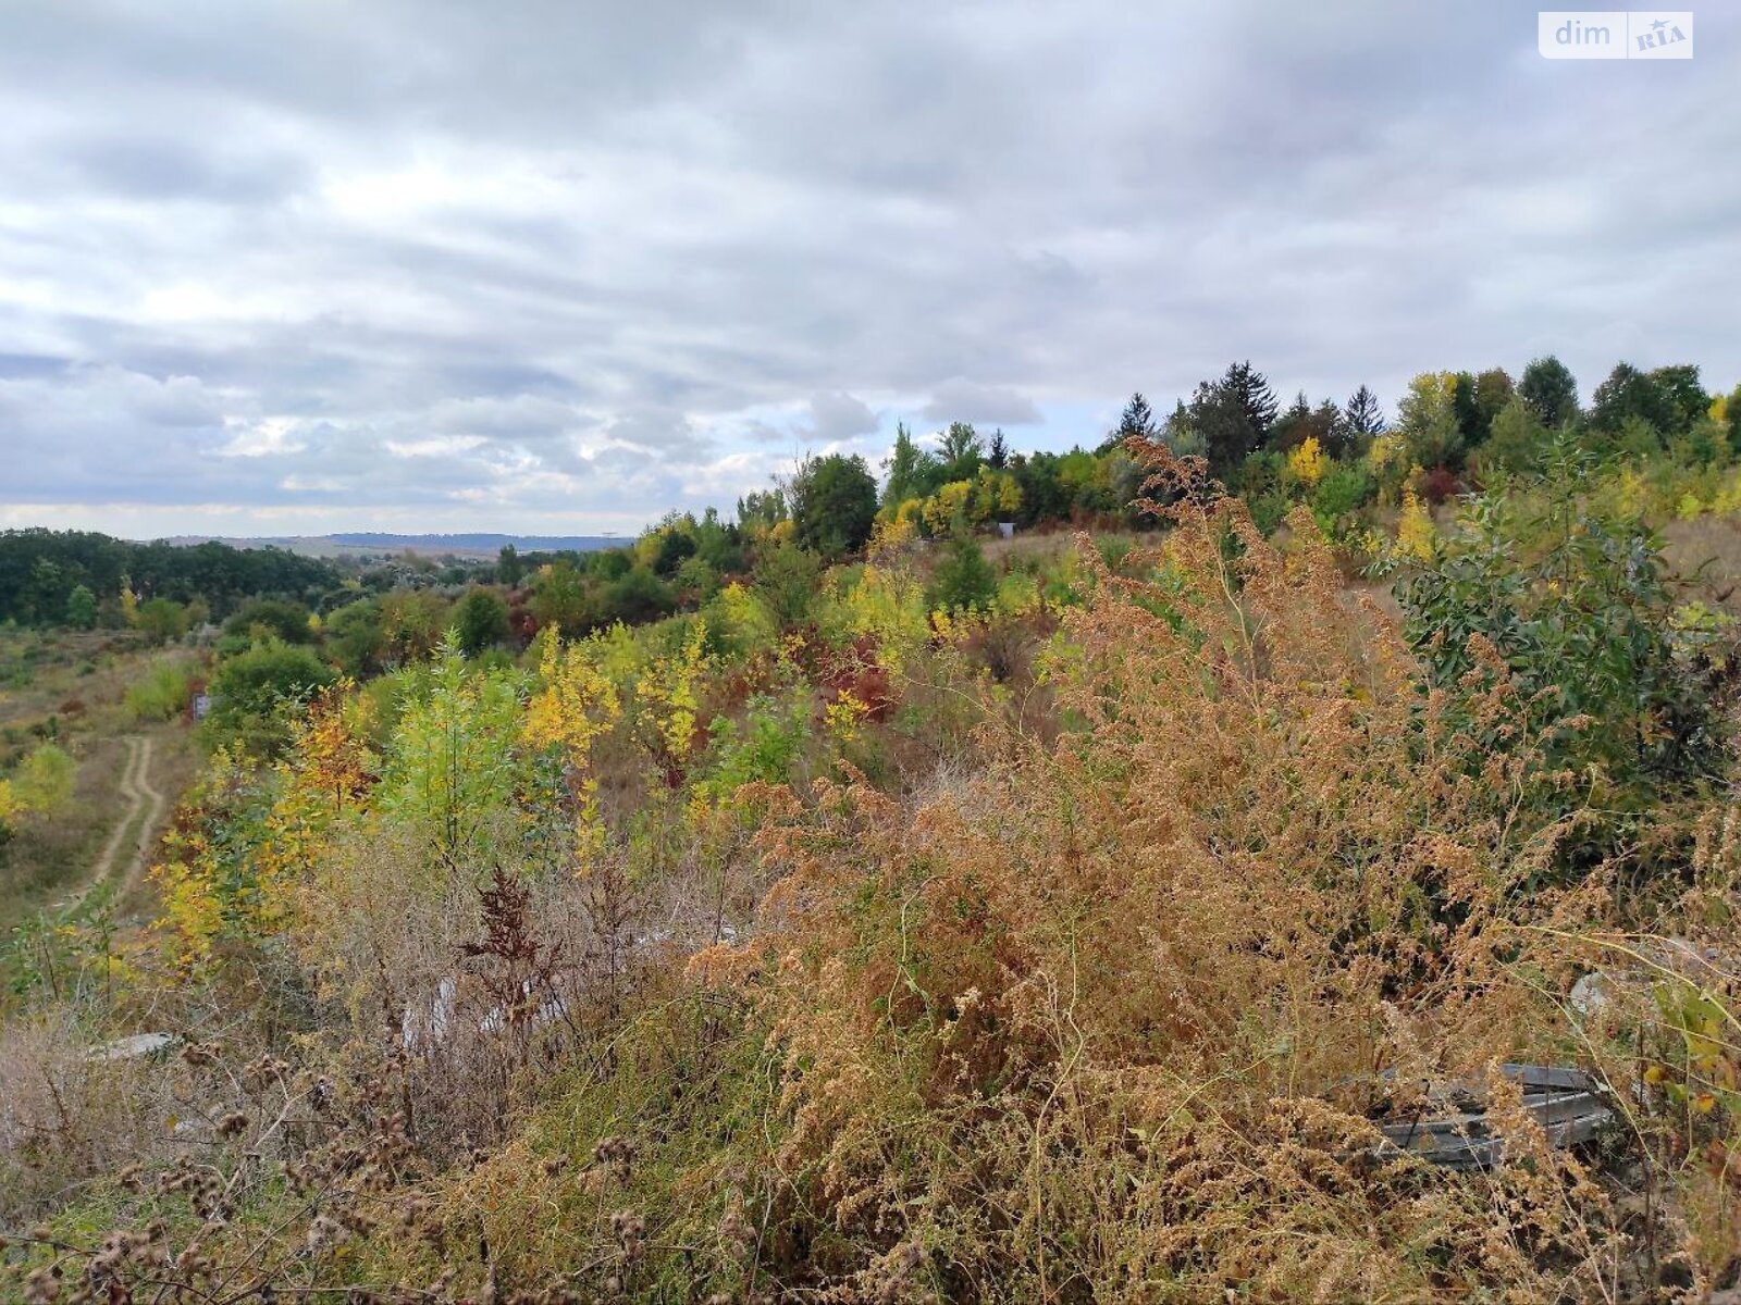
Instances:
[[[627,552],[245,611],[162,920],[71,929],[0,1027],[0,1281],[1731,1286],[1736,637],[1654,527],[1741,478],[1677,378],[1429,376],[1294,440],[1236,367],[1057,461],[1083,536],[982,545],[1050,473],[961,428],[883,487],[817,459]],[[1614,1124],[1549,1147],[1502,1061]],[[1381,1145],[1483,1077],[1501,1166]]]

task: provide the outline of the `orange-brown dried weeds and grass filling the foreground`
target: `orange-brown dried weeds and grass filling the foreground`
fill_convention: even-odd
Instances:
[[[561,799],[517,792],[461,854],[369,811],[366,783],[315,820],[291,799],[331,786],[292,759],[266,818],[282,924],[204,990],[240,1016],[232,1049],[127,1086],[71,1028],[0,1047],[14,1133],[50,1138],[31,1202],[127,1147],[169,1174],[97,1183],[12,1281],[42,1291],[54,1262],[113,1295],[172,1263],[165,1300],[526,1305],[1722,1284],[1727,793],[1638,825],[1685,880],[1621,914],[1621,863],[1565,873],[1584,778],[1543,764],[1487,651],[1429,693],[1306,520],[1276,546],[1238,503],[1187,498],[1149,543],[1116,572],[1090,550],[1088,604],[1024,658],[1045,720],[938,649],[904,696],[959,715],[898,783],[841,767],[716,809],[642,759],[608,776],[578,875],[538,844]],[[971,748],[942,743],[968,720]],[[634,764],[625,740],[595,760]],[[1664,960],[1687,948],[1694,973]],[[1612,978],[1598,1018],[1567,999],[1591,967]],[[178,992],[183,1025],[211,1018]],[[240,1063],[263,1047],[301,1061],[270,1093]],[[1428,1077],[1511,1058],[1602,1070],[1607,1150],[1551,1150],[1504,1089],[1490,1174],[1375,1147],[1374,1117],[1419,1110]],[[165,1084],[200,1103],[192,1141],[151,1136]],[[56,1124],[56,1096],[89,1122]],[[87,1166],[94,1131],[120,1143]],[[91,1209],[169,1230],[111,1255]]]

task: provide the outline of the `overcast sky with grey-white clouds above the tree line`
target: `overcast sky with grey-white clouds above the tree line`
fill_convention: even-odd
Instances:
[[[1741,379],[1741,14],[0,3],[0,525],[635,531],[895,423]]]

